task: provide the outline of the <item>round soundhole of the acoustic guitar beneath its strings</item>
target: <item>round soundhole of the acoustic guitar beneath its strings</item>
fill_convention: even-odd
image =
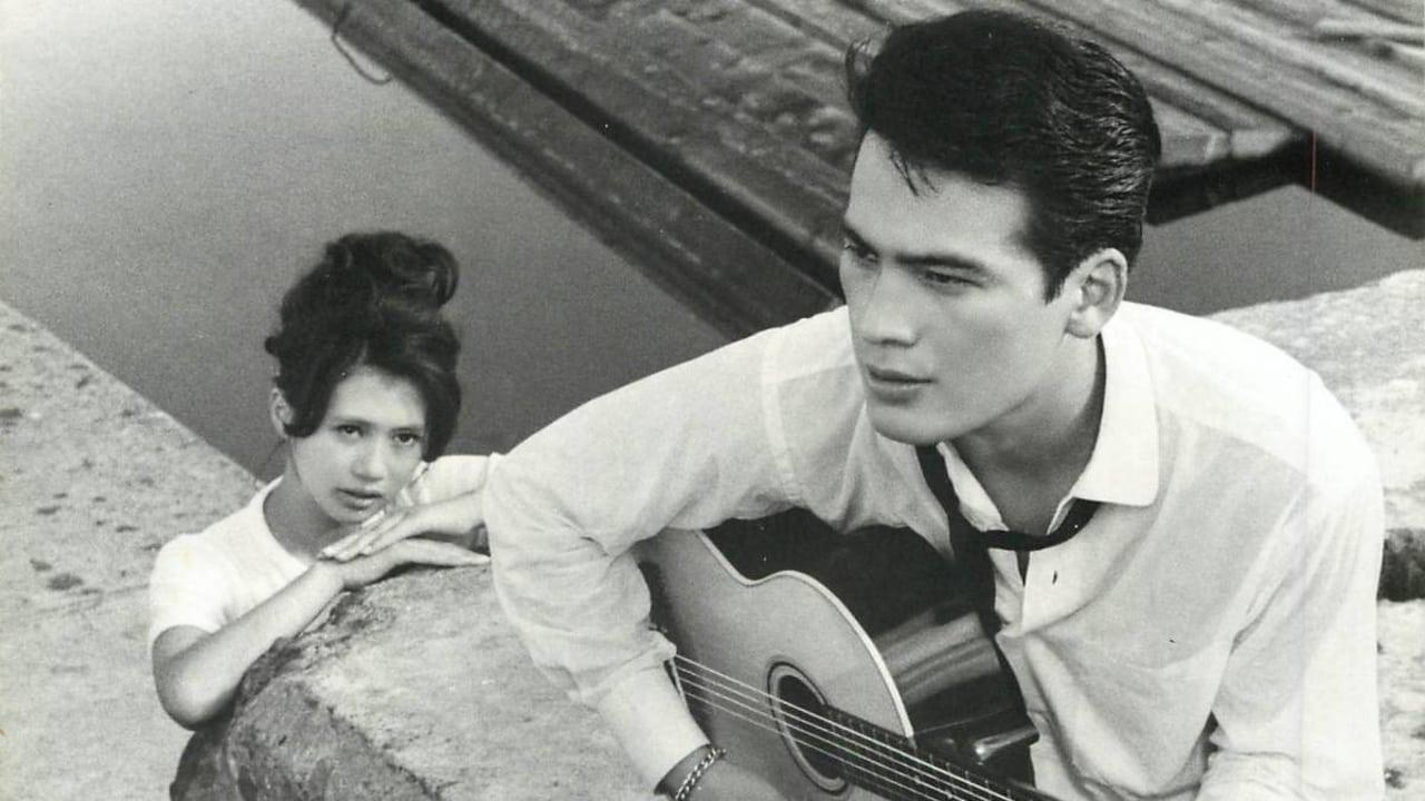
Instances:
[[[824,792],[842,792],[846,780],[834,735],[835,724],[826,718],[826,701],[807,677],[789,664],[772,667],[767,677],[772,696],[777,731],[802,774]]]

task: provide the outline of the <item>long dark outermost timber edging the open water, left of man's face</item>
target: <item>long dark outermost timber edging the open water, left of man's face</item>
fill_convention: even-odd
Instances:
[[[835,294],[410,3],[299,0],[732,336]]]

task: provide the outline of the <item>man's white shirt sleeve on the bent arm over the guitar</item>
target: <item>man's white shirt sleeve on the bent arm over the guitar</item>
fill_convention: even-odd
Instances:
[[[707,738],[668,680],[630,547],[795,505],[765,422],[765,332],[596,399],[486,486],[494,586],[534,663],[593,706],[650,785]]]

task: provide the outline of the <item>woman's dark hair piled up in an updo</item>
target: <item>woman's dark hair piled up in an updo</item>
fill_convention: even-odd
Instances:
[[[405,234],[348,234],[282,296],[266,338],[276,388],[292,419],[289,436],[316,430],[336,385],[358,368],[403,378],[426,406],[422,456],[445,452],[460,412],[460,342],[440,316],[460,278],[443,247]]]

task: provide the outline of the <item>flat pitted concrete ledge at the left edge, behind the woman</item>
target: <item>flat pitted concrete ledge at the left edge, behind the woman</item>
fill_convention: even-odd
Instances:
[[[164,797],[187,733],[144,650],[152,556],[254,489],[0,302],[0,795]]]

